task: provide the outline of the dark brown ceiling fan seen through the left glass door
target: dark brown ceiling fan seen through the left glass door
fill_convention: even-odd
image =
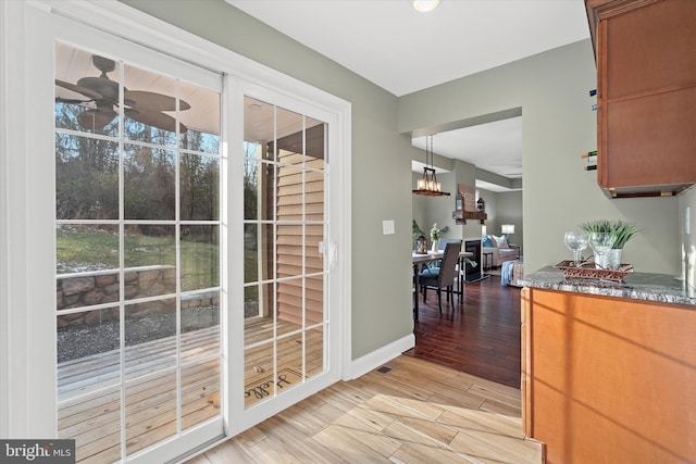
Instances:
[[[77,115],[77,122],[80,127],[89,130],[103,128],[107,124],[116,117],[117,113],[114,106],[119,105],[119,83],[111,80],[108,73],[115,70],[115,63],[108,58],[92,55],[91,62],[99,71],[99,77],[82,77],[76,84],[66,83],[55,79],[55,85],[67,90],[80,93],[87,97],[87,100],[76,100],[66,98],[57,98],[57,102],[61,103],[90,103],[95,108],[89,108]],[[163,111],[175,111],[176,99],[163,93],[156,93],[144,90],[123,90],[124,113],[126,116],[149,126],[158,127],[163,130],[176,130],[176,118],[163,113]],[[181,111],[190,109],[190,104],[184,100],[178,101]],[[179,133],[186,133],[187,128],[179,123]]]

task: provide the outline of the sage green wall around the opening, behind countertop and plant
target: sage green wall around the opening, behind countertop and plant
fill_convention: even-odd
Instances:
[[[570,258],[563,233],[592,218],[625,218],[643,234],[624,261],[636,271],[679,274],[676,198],[610,200],[580,154],[596,148],[596,87],[589,39],[410,93],[399,99],[399,130],[446,127],[522,108],[525,272]]]

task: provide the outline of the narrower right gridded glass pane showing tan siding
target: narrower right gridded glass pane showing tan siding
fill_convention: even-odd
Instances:
[[[326,369],[325,124],[245,98],[245,406]]]

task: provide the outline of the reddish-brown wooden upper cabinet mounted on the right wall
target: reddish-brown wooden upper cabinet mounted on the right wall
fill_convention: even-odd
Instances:
[[[597,180],[612,197],[696,184],[696,1],[585,0],[597,59]]]

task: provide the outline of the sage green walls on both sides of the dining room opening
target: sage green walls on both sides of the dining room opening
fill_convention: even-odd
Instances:
[[[568,259],[563,231],[597,217],[625,217],[645,230],[625,252],[638,271],[681,268],[678,199],[608,200],[582,170],[580,153],[596,146],[589,40],[397,99],[223,0],[123,1],[352,104],[353,360],[412,334],[410,164],[423,159],[410,142],[414,129],[522,108],[527,269]],[[473,181],[463,164],[450,165],[450,183]],[[451,214],[451,197],[437,204],[438,217]],[[396,235],[382,235],[384,220],[395,221]],[[478,236],[480,226],[461,234]]]

